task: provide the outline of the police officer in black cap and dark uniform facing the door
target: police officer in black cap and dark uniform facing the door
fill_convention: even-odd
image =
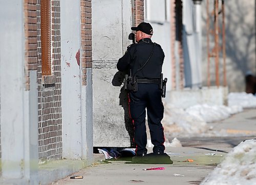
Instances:
[[[119,59],[117,69],[137,76],[137,92],[129,92],[130,113],[134,123],[134,142],[136,155],[147,154],[145,116],[147,110],[148,127],[150,128],[151,142],[154,145],[154,154],[164,154],[164,132],[161,120],[163,119],[163,103],[159,78],[162,72],[164,52],[159,44],[153,43],[151,37],[153,28],[150,23],[141,22],[136,31],[136,44],[127,47],[124,56]]]

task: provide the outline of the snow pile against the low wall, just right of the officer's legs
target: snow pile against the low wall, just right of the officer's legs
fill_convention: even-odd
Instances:
[[[242,111],[242,107],[236,105],[226,107],[197,104],[183,110],[164,103],[162,124],[166,134],[178,136],[182,133],[191,136],[206,133],[210,129],[207,122],[220,121]]]

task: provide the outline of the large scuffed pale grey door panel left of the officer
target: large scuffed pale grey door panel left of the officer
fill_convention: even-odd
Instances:
[[[132,3],[92,2],[94,146],[131,146],[127,95],[120,93],[123,78],[116,63],[131,44]]]

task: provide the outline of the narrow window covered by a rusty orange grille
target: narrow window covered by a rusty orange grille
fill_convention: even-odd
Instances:
[[[51,75],[51,0],[41,0],[42,75]]]

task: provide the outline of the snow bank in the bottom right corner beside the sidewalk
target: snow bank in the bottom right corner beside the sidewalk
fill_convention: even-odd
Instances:
[[[256,184],[256,139],[234,147],[201,183],[202,185]]]

